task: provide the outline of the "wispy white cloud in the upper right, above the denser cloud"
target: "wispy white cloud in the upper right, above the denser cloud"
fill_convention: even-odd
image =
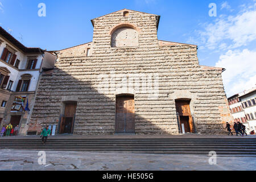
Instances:
[[[208,49],[216,49],[231,41],[228,49],[246,46],[256,40],[256,9],[241,11],[236,16],[224,16],[213,23],[206,23],[199,31],[200,40]]]

